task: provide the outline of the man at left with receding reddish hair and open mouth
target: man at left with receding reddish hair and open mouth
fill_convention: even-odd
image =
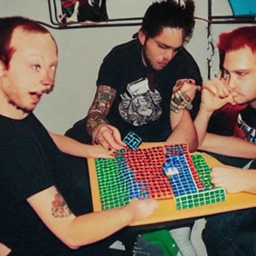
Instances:
[[[33,114],[56,68],[57,45],[47,29],[23,17],[0,18],[1,255],[109,255],[104,238],[157,207],[155,200],[135,199],[72,213],[64,153],[111,158],[111,152],[47,131]]]

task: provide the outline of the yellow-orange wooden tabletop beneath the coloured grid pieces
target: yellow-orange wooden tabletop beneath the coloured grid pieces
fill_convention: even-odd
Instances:
[[[146,147],[153,147],[153,146],[160,146],[164,145],[162,142],[144,142],[140,145],[140,148]],[[205,161],[207,162],[208,166],[211,168],[213,166],[220,166],[223,165],[214,157],[206,154],[206,153],[199,153],[195,152],[194,154],[201,154]],[[89,169],[89,178],[90,178],[90,188],[91,188],[91,196],[92,196],[92,203],[93,203],[93,210],[100,211],[101,210],[101,203],[99,197],[99,190],[98,190],[98,182],[95,170],[94,159],[88,159],[88,169]],[[137,226],[141,229],[143,226],[156,224],[155,227],[160,227],[167,225],[171,222],[182,222],[189,219],[197,219],[199,217],[204,217],[206,215],[226,212],[231,210],[243,209],[243,208],[250,208],[256,207],[256,195],[250,193],[236,193],[236,194],[227,194],[226,201],[212,203],[209,205],[193,207],[189,209],[181,209],[177,210],[174,207],[173,199],[159,199],[159,206],[155,210],[155,212],[150,215],[147,219],[136,221],[131,223],[131,226]]]

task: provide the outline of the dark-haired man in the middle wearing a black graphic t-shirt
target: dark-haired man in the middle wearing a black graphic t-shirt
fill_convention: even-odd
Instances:
[[[202,83],[195,60],[183,47],[193,27],[193,0],[152,3],[145,12],[138,38],[115,46],[103,59],[87,116],[65,135],[117,150],[125,146],[123,137],[133,131],[143,142],[187,143],[190,151],[196,150],[191,117],[195,118],[198,111],[199,93],[195,93],[193,107],[182,111],[179,121],[172,120],[170,125],[169,118],[176,81],[186,78],[192,84]],[[184,237],[188,237],[187,228],[183,230]],[[171,234],[179,248],[187,247],[183,254],[195,255],[191,244],[183,246],[183,241],[179,242],[180,230],[176,235],[174,232]]]

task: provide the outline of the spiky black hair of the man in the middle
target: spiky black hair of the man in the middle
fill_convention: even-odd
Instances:
[[[141,30],[147,37],[157,36],[164,27],[182,29],[183,37],[190,37],[194,28],[194,2],[184,0],[163,0],[152,3],[146,10]]]

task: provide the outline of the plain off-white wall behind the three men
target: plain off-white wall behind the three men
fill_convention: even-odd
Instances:
[[[152,2],[106,1],[110,18],[143,16],[146,7]],[[218,3],[215,6],[223,11],[223,6],[229,7],[226,1],[215,0]],[[207,18],[207,1],[195,0],[195,5],[196,16]],[[0,16],[10,15],[22,15],[50,23],[47,0],[0,0]],[[206,27],[207,22],[196,20],[194,35],[187,45],[204,80],[207,78]],[[46,128],[56,133],[64,133],[76,120],[86,115],[93,99],[97,72],[104,55],[116,44],[130,40],[138,28],[139,26],[63,30],[49,28],[58,44],[59,66],[53,92],[44,95],[35,110],[35,114]]]

